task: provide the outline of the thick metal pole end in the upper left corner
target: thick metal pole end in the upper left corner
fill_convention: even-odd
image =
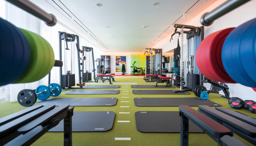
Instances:
[[[53,14],[48,14],[41,8],[37,7],[29,0],[7,0],[14,4],[15,6],[21,8],[34,15],[35,17],[45,21],[45,24],[48,26],[54,26],[57,23],[57,19]]]

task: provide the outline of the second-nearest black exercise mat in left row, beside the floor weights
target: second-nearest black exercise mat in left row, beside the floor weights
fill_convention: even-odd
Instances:
[[[39,101],[36,104],[70,104],[70,106],[113,106],[117,102],[117,98],[48,98]]]

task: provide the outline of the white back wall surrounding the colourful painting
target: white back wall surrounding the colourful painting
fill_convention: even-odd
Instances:
[[[115,57],[116,56],[126,56],[126,72],[125,74],[131,73],[131,53],[127,52],[102,52],[101,55],[109,55],[110,56],[110,66],[111,73],[122,74],[122,72],[115,72]]]

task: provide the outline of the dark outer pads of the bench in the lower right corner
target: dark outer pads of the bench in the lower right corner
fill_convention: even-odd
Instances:
[[[213,109],[207,105],[200,105],[199,112],[221,123],[223,126],[229,128],[233,133],[244,138],[254,146],[256,145],[255,118],[223,107]]]

